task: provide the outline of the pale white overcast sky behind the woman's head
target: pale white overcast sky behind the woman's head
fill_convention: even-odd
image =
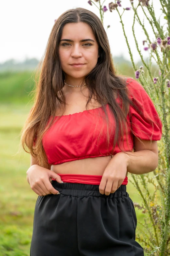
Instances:
[[[106,0],[104,5],[106,5],[108,8],[109,3],[110,0]],[[138,0],[134,0],[134,6],[136,6],[137,3]],[[122,13],[123,7],[131,7],[130,1],[127,0],[122,0],[121,5],[122,7],[118,7],[120,13]],[[44,53],[50,31],[54,25],[54,20],[57,19],[67,9],[76,7],[89,9],[98,17],[100,17],[99,10],[94,5],[90,6],[87,0],[2,1],[0,15],[0,63],[10,58],[14,58],[17,61],[23,61],[26,57],[36,57],[40,60]],[[154,7],[158,20],[162,13],[160,10],[160,0],[154,0]],[[147,12],[147,8],[144,8]],[[134,55],[134,60],[137,61],[139,60],[139,55],[136,50],[132,34],[133,15],[133,10],[124,11],[122,19],[125,25],[128,41]],[[141,17],[141,21],[143,21],[143,13],[141,11],[139,11],[139,15]],[[162,24],[164,24],[165,20],[163,19],[163,15],[161,17]],[[116,10],[110,12],[108,9],[108,11],[104,13],[105,30],[108,24],[110,25],[110,28],[107,29],[107,36],[112,55],[123,55],[124,58],[130,60],[128,48],[122,32],[122,26],[118,12]],[[150,25],[146,21],[146,18],[145,26],[149,32],[151,41],[155,40],[153,32],[150,28]],[[143,50],[144,46],[142,44],[142,40],[145,40],[146,36],[144,35],[142,28],[137,24],[137,22],[135,26],[135,34],[139,42],[139,49],[144,54],[144,57],[147,57],[149,53]]]

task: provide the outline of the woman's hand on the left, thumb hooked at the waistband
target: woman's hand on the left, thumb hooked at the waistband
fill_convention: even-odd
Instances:
[[[26,173],[31,189],[37,195],[46,196],[49,194],[56,195],[59,193],[59,191],[57,191],[50,183],[51,178],[55,179],[59,183],[62,183],[60,175],[54,171],[40,167],[39,165],[32,165]]]

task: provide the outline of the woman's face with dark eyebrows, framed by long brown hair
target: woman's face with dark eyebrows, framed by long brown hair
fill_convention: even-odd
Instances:
[[[91,72],[97,64],[99,54],[90,25],[83,22],[66,24],[59,43],[59,56],[66,81],[81,81]],[[84,65],[71,65],[79,62]]]

